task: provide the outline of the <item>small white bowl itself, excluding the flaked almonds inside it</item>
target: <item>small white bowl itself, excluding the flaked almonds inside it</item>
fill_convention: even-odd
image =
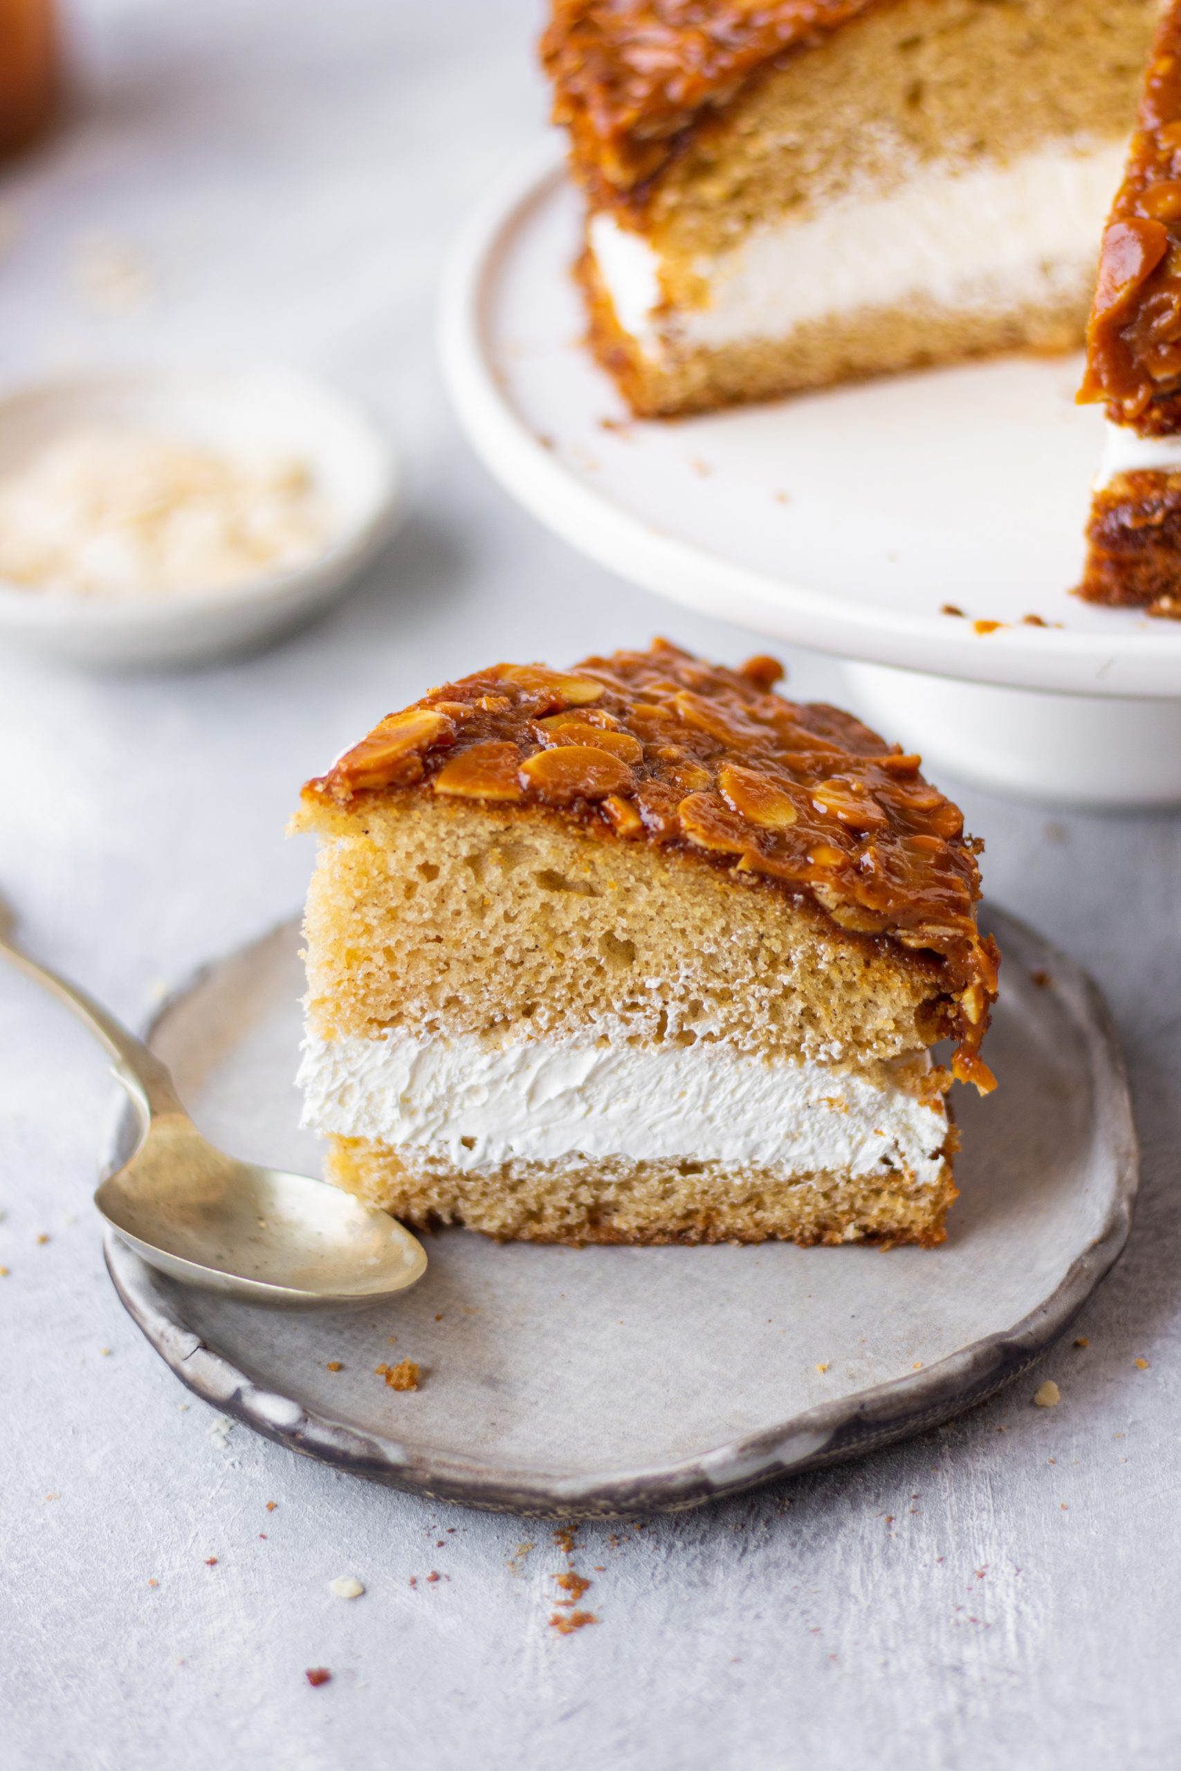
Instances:
[[[78,425],[294,455],[329,510],[324,547],[305,565],[230,588],[110,597],[0,579],[0,634],[78,664],[195,664],[255,646],[338,597],[402,515],[390,441],[331,388],[292,370],[124,368],[19,388],[0,397],[0,478]]]

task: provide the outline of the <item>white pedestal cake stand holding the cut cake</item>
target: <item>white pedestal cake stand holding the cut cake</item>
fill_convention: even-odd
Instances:
[[[446,275],[450,391],[522,505],[648,590],[846,659],[855,708],[937,769],[1181,804],[1181,625],[1069,595],[1101,432],[1077,358],[636,423],[581,344],[577,239],[547,142]]]

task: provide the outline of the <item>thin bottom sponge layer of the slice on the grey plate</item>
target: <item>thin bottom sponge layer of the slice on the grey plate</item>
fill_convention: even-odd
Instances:
[[[954,1133],[949,1133],[946,1153]],[[336,1187],[432,1229],[464,1224],[503,1241],[885,1243],[944,1240],[956,1197],[951,1164],[917,1185],[910,1172],[795,1174],[768,1165],[678,1158],[512,1158],[460,1171],[446,1155],[361,1137],[328,1141]]]

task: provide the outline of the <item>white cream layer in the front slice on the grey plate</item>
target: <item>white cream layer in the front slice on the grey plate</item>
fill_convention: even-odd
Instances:
[[[305,1128],[446,1153],[457,1169],[579,1153],[802,1174],[910,1169],[931,1185],[947,1135],[935,1094],[712,1041],[308,1038],[297,1082]]]

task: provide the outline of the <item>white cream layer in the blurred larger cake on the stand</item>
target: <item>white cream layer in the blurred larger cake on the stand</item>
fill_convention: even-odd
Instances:
[[[590,246],[616,319],[641,349],[776,338],[807,321],[924,296],[988,308],[1082,292],[1123,174],[1124,143],[1055,145],[1009,165],[915,172],[889,197],[845,197],[807,221],[753,228],[703,259],[706,306],[659,312],[660,259],[607,213]]]

